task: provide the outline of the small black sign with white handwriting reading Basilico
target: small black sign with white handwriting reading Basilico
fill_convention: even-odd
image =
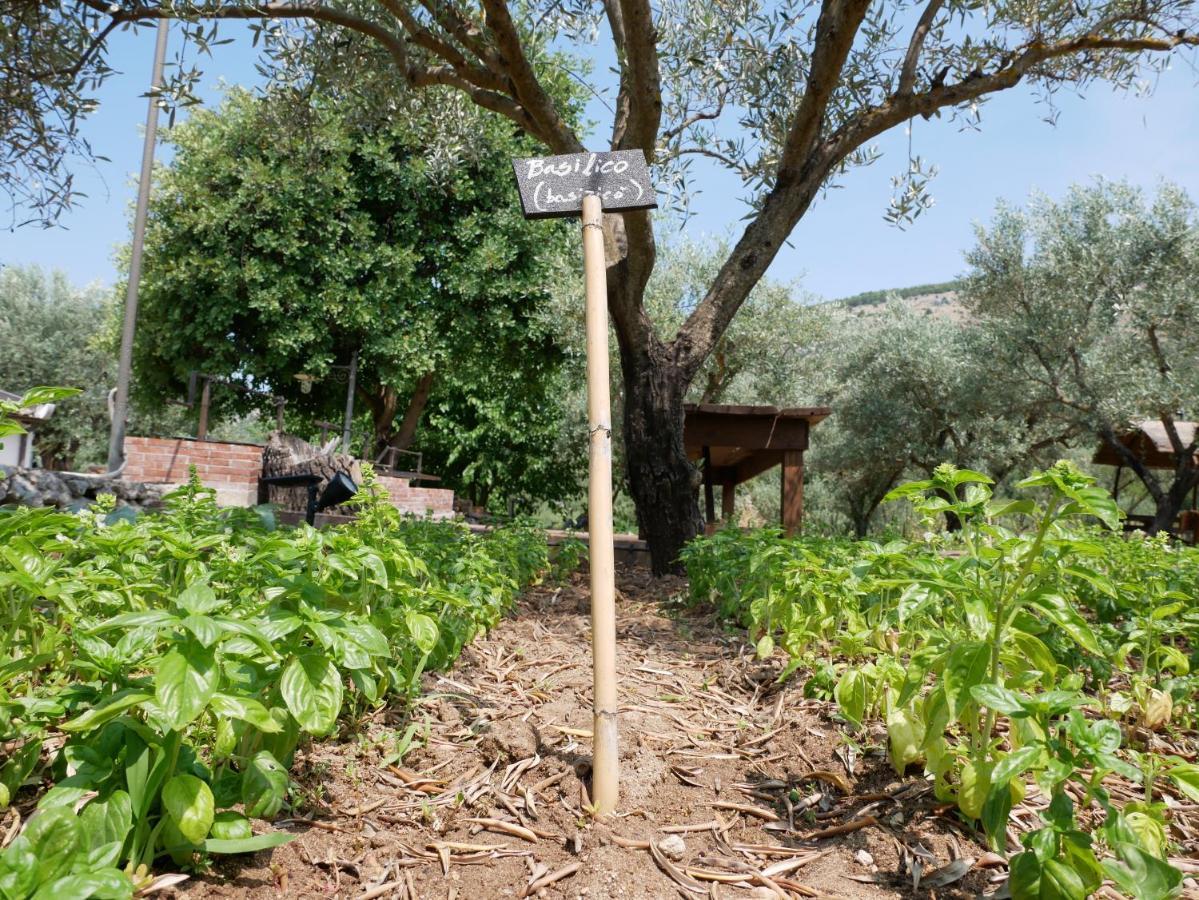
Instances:
[[[658,205],[640,150],[513,159],[512,168],[526,219],[577,216],[583,211],[583,195],[589,193],[600,194],[605,211]]]

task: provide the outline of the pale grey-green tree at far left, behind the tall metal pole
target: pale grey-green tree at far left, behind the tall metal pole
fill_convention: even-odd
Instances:
[[[36,266],[0,268],[0,388],[80,388],[37,428],[37,451],[47,469],[82,469],[104,460],[108,389],[116,372],[104,346],[107,315],[107,292],[100,286],[79,289],[65,273]]]

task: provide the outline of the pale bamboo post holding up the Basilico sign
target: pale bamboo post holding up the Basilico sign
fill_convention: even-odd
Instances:
[[[616,581],[611,536],[611,400],[608,395],[608,273],[600,195],[583,197],[583,272],[586,278],[591,653],[594,707],[591,803],[605,815],[620,796],[616,735]]]

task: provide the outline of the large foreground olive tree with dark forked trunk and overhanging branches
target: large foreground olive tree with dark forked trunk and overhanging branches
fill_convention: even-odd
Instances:
[[[555,48],[603,41],[615,96],[594,141],[641,150],[668,193],[687,183],[692,159],[715,161],[741,177],[749,206],[671,338],[644,304],[652,218],[605,217],[628,484],[658,572],[701,525],[682,442],[691,382],[830,182],[872,162],[872,141],[914,116],[972,119],[988,96],[1020,83],[1049,93],[1128,85],[1146,65],[1199,43],[1191,0],[60,0],[10,4],[4,16],[4,183],[47,215],[70,193],[66,157],[86,150],[78,121],[89,87],[109,72],[114,29],[182,19],[203,50],[219,20],[249,20],[281,78],[299,61],[351,87],[386,68],[397,90],[451,86],[555,153],[582,151],[591,135],[564,114],[549,80],[564,71],[595,80],[588,64]],[[176,85],[192,81],[180,67]],[[903,168],[911,174],[897,219],[922,209],[920,167]]]

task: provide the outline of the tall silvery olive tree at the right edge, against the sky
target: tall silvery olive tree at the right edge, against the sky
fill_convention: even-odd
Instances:
[[[1028,210],[1001,204],[968,254],[964,302],[986,333],[996,381],[1061,428],[1103,441],[1173,525],[1197,484],[1199,211],[1180,188],[1156,198],[1128,185],[1073,188]],[[1174,467],[1147,469],[1120,440],[1161,422]]]

